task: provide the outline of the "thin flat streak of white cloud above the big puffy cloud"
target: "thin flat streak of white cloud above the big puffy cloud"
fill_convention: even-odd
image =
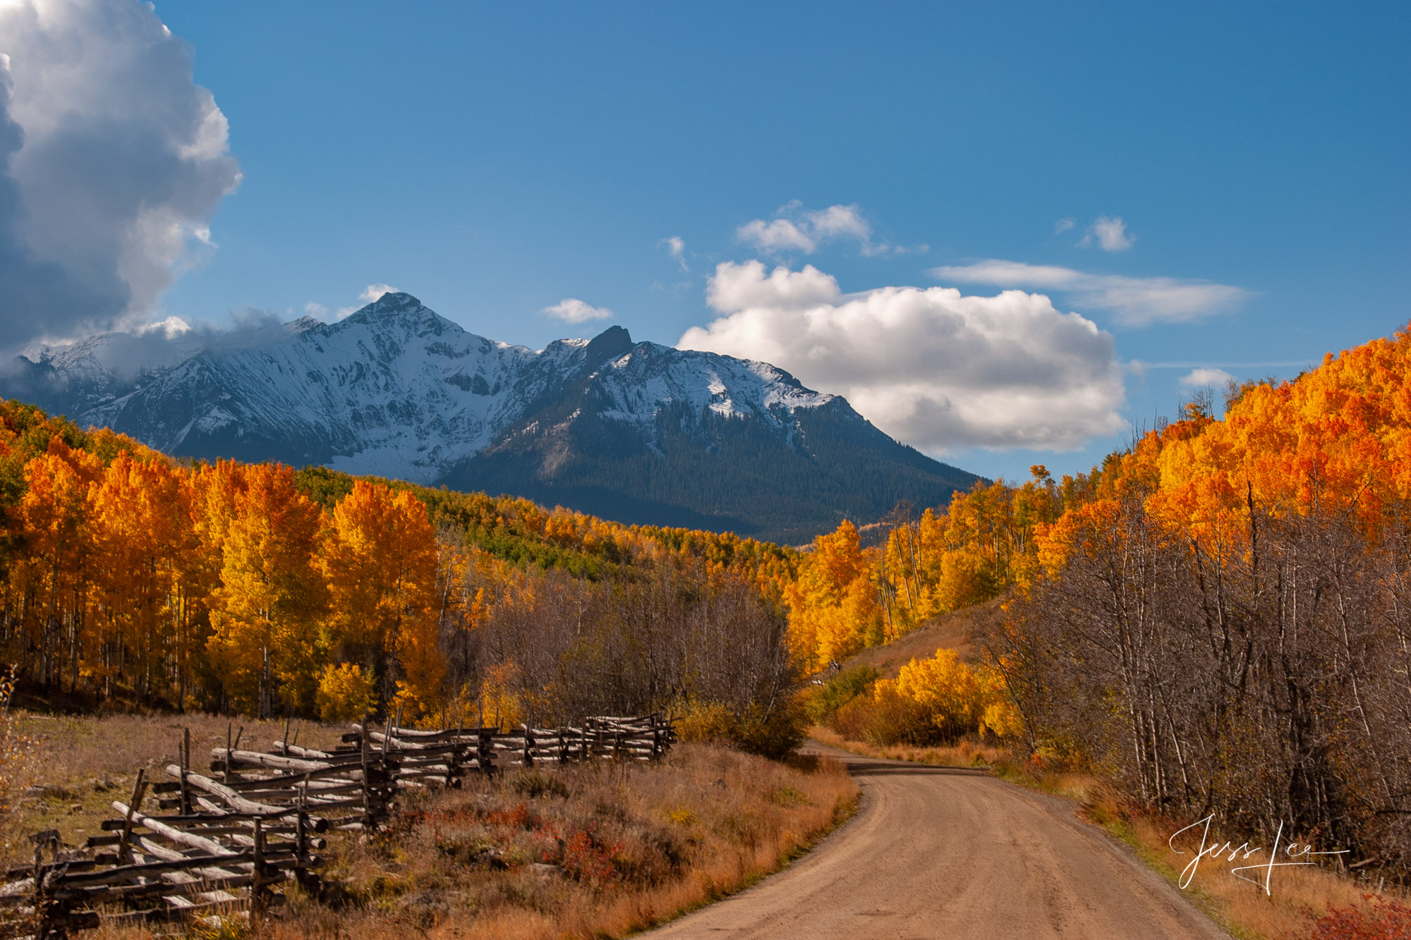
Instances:
[[[1067,292],[1079,306],[1110,311],[1127,326],[1197,320],[1232,311],[1250,296],[1245,288],[1209,281],[1089,274],[1057,265],[1002,260],[944,265],[931,268],[930,274],[940,281],[958,284]]]

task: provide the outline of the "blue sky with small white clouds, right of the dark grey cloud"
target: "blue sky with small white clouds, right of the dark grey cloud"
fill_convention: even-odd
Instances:
[[[1036,460],[1088,469],[1127,439],[1113,415],[1173,414],[1195,368],[1287,377],[1411,318],[1404,4],[165,0],[155,13],[189,44],[241,174],[206,203],[219,247],[198,246],[154,288],[157,319],[333,318],[387,284],[535,347],[610,323],[674,344],[721,322],[697,344],[803,363],[883,429],[1015,477]],[[913,374],[924,366],[889,366],[886,342],[831,367],[780,347],[796,320],[777,298],[755,285],[721,299],[721,278],[753,260],[835,279],[827,342],[842,350],[865,344],[848,329],[923,363],[951,349],[951,333],[921,336],[924,316],[897,320],[869,294],[888,287],[1022,288],[1054,309],[995,319],[934,301],[983,327],[965,335],[983,346],[965,368],[934,358],[968,377],[934,385]],[[855,294],[876,319],[849,319]],[[542,312],[569,298],[612,315]],[[1078,336],[1067,313],[1110,342]],[[1009,339],[1027,347],[1010,356]],[[1047,361],[1057,347],[1067,358]],[[1050,366],[1062,388],[1005,385]],[[910,384],[888,384],[906,368]],[[897,418],[906,402],[888,398],[958,399],[967,382],[989,412]],[[1064,398],[1074,388],[1084,402]],[[1046,433],[1053,408],[1086,411]],[[995,409],[1029,409],[1029,423]]]

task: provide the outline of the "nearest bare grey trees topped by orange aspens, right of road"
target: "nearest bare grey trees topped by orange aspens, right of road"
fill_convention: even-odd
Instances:
[[[1405,876],[1411,333],[1192,404],[1034,543],[986,646],[1041,757]]]

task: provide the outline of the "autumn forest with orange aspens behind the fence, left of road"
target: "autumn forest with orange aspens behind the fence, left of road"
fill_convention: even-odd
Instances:
[[[48,697],[502,727],[787,713],[796,553],[751,539],[178,462],[17,402],[0,522],[0,656]]]

